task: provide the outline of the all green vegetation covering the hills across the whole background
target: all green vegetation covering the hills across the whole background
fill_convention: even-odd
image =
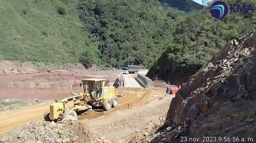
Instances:
[[[157,0],[0,0],[0,60],[81,62],[101,69],[132,64],[168,79],[196,72],[227,41],[256,26],[255,16],[216,20],[211,3],[200,10],[189,0],[162,2],[183,11]]]

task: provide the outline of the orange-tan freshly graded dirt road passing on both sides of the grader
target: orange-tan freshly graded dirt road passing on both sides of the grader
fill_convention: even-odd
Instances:
[[[154,90],[156,90],[155,92],[162,91],[162,89]],[[125,110],[127,108],[136,108],[137,106],[144,104],[148,100],[153,100],[157,98],[154,97],[154,94],[151,94],[151,90],[147,89],[123,88],[118,89],[118,92],[123,93],[123,97],[120,98],[120,105],[118,108],[113,108],[110,111],[104,112],[102,114],[97,114],[97,112],[95,111],[89,114],[85,112],[85,114],[79,116],[79,121],[85,122],[87,120],[94,119],[100,116],[112,114],[116,111]],[[164,93],[161,94],[164,95]],[[69,104],[69,106],[71,105],[72,103]],[[17,110],[0,112],[0,135],[7,133],[14,127],[24,125],[28,122],[37,122],[44,120],[43,114],[47,109],[49,109],[49,104],[30,106]]]

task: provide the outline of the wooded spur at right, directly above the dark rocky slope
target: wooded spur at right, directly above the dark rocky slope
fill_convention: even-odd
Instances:
[[[229,4],[234,0],[225,0],[225,2]],[[235,2],[251,3],[256,7],[254,0]],[[227,15],[222,20],[216,20],[210,15],[210,5],[211,3],[203,11],[179,16],[172,44],[150,68],[149,77],[157,76],[173,84],[184,83],[224,47],[227,41],[255,29],[255,16]]]

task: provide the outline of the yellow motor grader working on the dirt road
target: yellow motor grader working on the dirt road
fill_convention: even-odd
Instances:
[[[103,110],[108,111],[111,107],[117,107],[119,99],[114,86],[105,86],[106,79],[83,79],[84,92],[73,93],[71,86],[71,97],[62,100],[55,100],[50,105],[50,110],[44,114],[45,121],[56,121],[60,118],[77,120],[76,112],[82,110],[92,110],[92,106],[102,106]],[[66,107],[68,102],[74,102],[74,106]]]

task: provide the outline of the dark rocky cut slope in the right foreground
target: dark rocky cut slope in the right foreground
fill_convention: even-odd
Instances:
[[[255,47],[255,30],[229,41],[172,99],[166,124],[142,142],[181,142],[182,137],[200,142],[203,137],[217,137],[215,142],[224,137],[255,140]]]

